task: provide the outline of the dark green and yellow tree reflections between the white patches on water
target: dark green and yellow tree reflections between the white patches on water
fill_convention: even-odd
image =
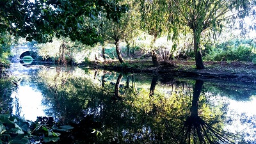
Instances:
[[[51,70],[40,75],[43,79],[53,76],[47,83],[54,93],[44,95],[44,103],[52,105],[49,112],[52,111],[59,122],[71,122],[74,127],[72,132],[61,134],[58,143],[234,142],[234,134],[223,131],[223,113],[214,114],[209,106],[199,106],[205,102],[205,98],[200,97],[203,81],[196,81],[190,99],[189,84],[186,86],[175,79],[169,82],[175,87],[168,89],[172,91],[169,93],[161,91],[164,84],[157,76],[150,80],[101,70],[61,72],[58,76],[63,77],[65,84],[59,83],[61,86],[56,87],[51,87],[56,83],[56,75],[49,74]]]

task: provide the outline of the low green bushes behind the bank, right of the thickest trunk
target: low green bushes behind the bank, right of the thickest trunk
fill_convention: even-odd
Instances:
[[[253,40],[228,40],[209,47],[205,60],[214,61],[253,61],[256,58]]]

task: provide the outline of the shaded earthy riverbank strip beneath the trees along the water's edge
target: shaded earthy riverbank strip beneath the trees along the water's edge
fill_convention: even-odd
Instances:
[[[150,60],[129,60],[124,64],[118,61],[97,63],[92,67],[117,70],[127,73],[146,72],[161,76],[178,76],[195,79],[218,79],[224,81],[237,81],[256,83],[256,65],[241,61],[205,61],[205,68],[195,68],[195,61],[162,61],[161,65],[154,67]]]

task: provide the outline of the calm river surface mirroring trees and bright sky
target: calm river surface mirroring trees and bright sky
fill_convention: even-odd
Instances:
[[[72,125],[58,143],[255,143],[256,84],[12,63],[12,113]]]

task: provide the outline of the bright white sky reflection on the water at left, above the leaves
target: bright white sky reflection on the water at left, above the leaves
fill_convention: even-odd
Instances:
[[[45,116],[41,92],[36,92],[29,86],[19,86],[11,97],[14,100],[13,115],[20,115],[32,121],[35,121],[37,116]]]

